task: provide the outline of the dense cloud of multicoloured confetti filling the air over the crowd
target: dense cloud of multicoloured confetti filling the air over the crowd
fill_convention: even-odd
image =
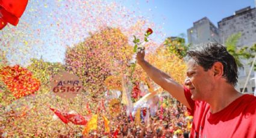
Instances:
[[[123,76],[131,75],[133,35],[143,40],[148,28],[154,29],[154,34],[149,30],[152,36],[145,44],[146,60],[183,83],[184,61],[170,53],[162,42],[157,42],[157,35],[163,37],[161,27],[150,22],[149,17],[137,16],[137,11],[122,4],[122,1],[103,0],[32,0],[17,26],[7,25],[1,30],[2,137],[81,137],[84,129],[89,135],[112,133],[116,136],[121,128],[119,117],[128,118],[130,113],[125,111],[131,109],[122,102],[113,105],[111,101],[121,101],[123,91],[126,91],[126,100],[139,101],[143,94],[158,87],[139,65],[132,76],[137,83],[130,80],[125,80],[125,85],[122,83]],[[50,82],[61,71],[79,77],[83,82],[81,95],[66,100],[53,94]],[[163,89],[158,91],[161,93]],[[150,103],[155,108],[150,110],[152,116],[161,102],[157,96],[154,101]],[[161,105],[166,109],[170,107],[167,103]],[[54,119],[54,112],[49,107],[63,113],[75,110],[72,115],[78,115],[78,119],[83,116],[90,122],[87,124],[101,131],[76,125],[79,124],[76,118],[72,119],[75,124]],[[113,112],[118,112],[119,116]],[[86,116],[95,117],[92,120]],[[132,116],[129,118],[133,120]]]

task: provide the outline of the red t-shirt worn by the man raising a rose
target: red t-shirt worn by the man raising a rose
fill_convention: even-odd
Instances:
[[[256,97],[242,95],[217,113],[205,101],[193,101],[184,87],[193,118],[190,137],[256,137]]]

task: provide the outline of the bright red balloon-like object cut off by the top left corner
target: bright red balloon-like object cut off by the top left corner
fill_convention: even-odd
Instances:
[[[16,26],[28,4],[28,0],[0,0],[0,29],[7,23]]]

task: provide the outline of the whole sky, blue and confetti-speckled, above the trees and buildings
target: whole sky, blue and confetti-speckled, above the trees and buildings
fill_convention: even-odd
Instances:
[[[31,58],[64,63],[67,47],[105,27],[121,28],[130,43],[147,28],[156,45],[167,37],[186,38],[187,29],[203,17],[214,25],[254,0],[30,0],[17,26],[0,32],[0,47],[11,65]]]

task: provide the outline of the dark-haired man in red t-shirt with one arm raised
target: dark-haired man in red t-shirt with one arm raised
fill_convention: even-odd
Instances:
[[[226,47],[207,43],[189,50],[185,80],[189,88],[144,57],[142,49],[136,58],[143,70],[194,116],[190,137],[256,137],[256,97],[234,88],[237,65]]]

